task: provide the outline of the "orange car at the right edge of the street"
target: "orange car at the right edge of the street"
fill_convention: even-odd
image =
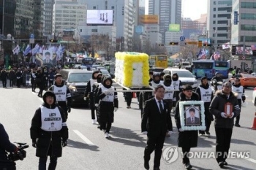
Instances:
[[[235,76],[230,78],[230,82],[235,82],[236,78],[239,78],[241,85],[243,85],[244,88],[256,87],[256,77],[253,76],[252,74],[247,74],[247,73],[236,74]]]

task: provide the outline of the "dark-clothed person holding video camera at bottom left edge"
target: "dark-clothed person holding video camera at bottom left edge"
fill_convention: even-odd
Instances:
[[[15,169],[15,163],[8,161],[7,152],[18,152],[18,147],[12,144],[9,136],[0,123],[0,169]],[[8,164],[7,164],[8,163]],[[11,168],[12,167],[12,168]]]

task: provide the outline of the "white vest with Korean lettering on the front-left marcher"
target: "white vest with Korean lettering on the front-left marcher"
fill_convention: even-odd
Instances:
[[[58,107],[55,109],[48,109],[47,107],[40,106],[41,108],[41,128],[44,131],[60,131],[62,128],[62,118]]]

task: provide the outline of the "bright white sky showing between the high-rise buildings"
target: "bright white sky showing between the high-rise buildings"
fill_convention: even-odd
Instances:
[[[182,0],[181,2],[181,16],[183,18],[191,18],[196,20],[200,18],[201,14],[207,12],[207,1],[208,0]],[[148,14],[148,0],[146,0],[146,14]]]

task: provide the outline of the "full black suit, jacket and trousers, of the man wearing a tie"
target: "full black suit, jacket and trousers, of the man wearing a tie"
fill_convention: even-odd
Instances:
[[[159,107],[155,98],[146,101],[143,109],[143,117],[141,121],[141,131],[148,132],[147,145],[144,151],[144,161],[150,160],[151,152],[154,155],[154,168],[159,168],[162,155],[162,147],[165,142],[165,134],[167,130],[171,130],[170,114],[167,113],[167,103],[162,100],[163,112],[159,111]]]

